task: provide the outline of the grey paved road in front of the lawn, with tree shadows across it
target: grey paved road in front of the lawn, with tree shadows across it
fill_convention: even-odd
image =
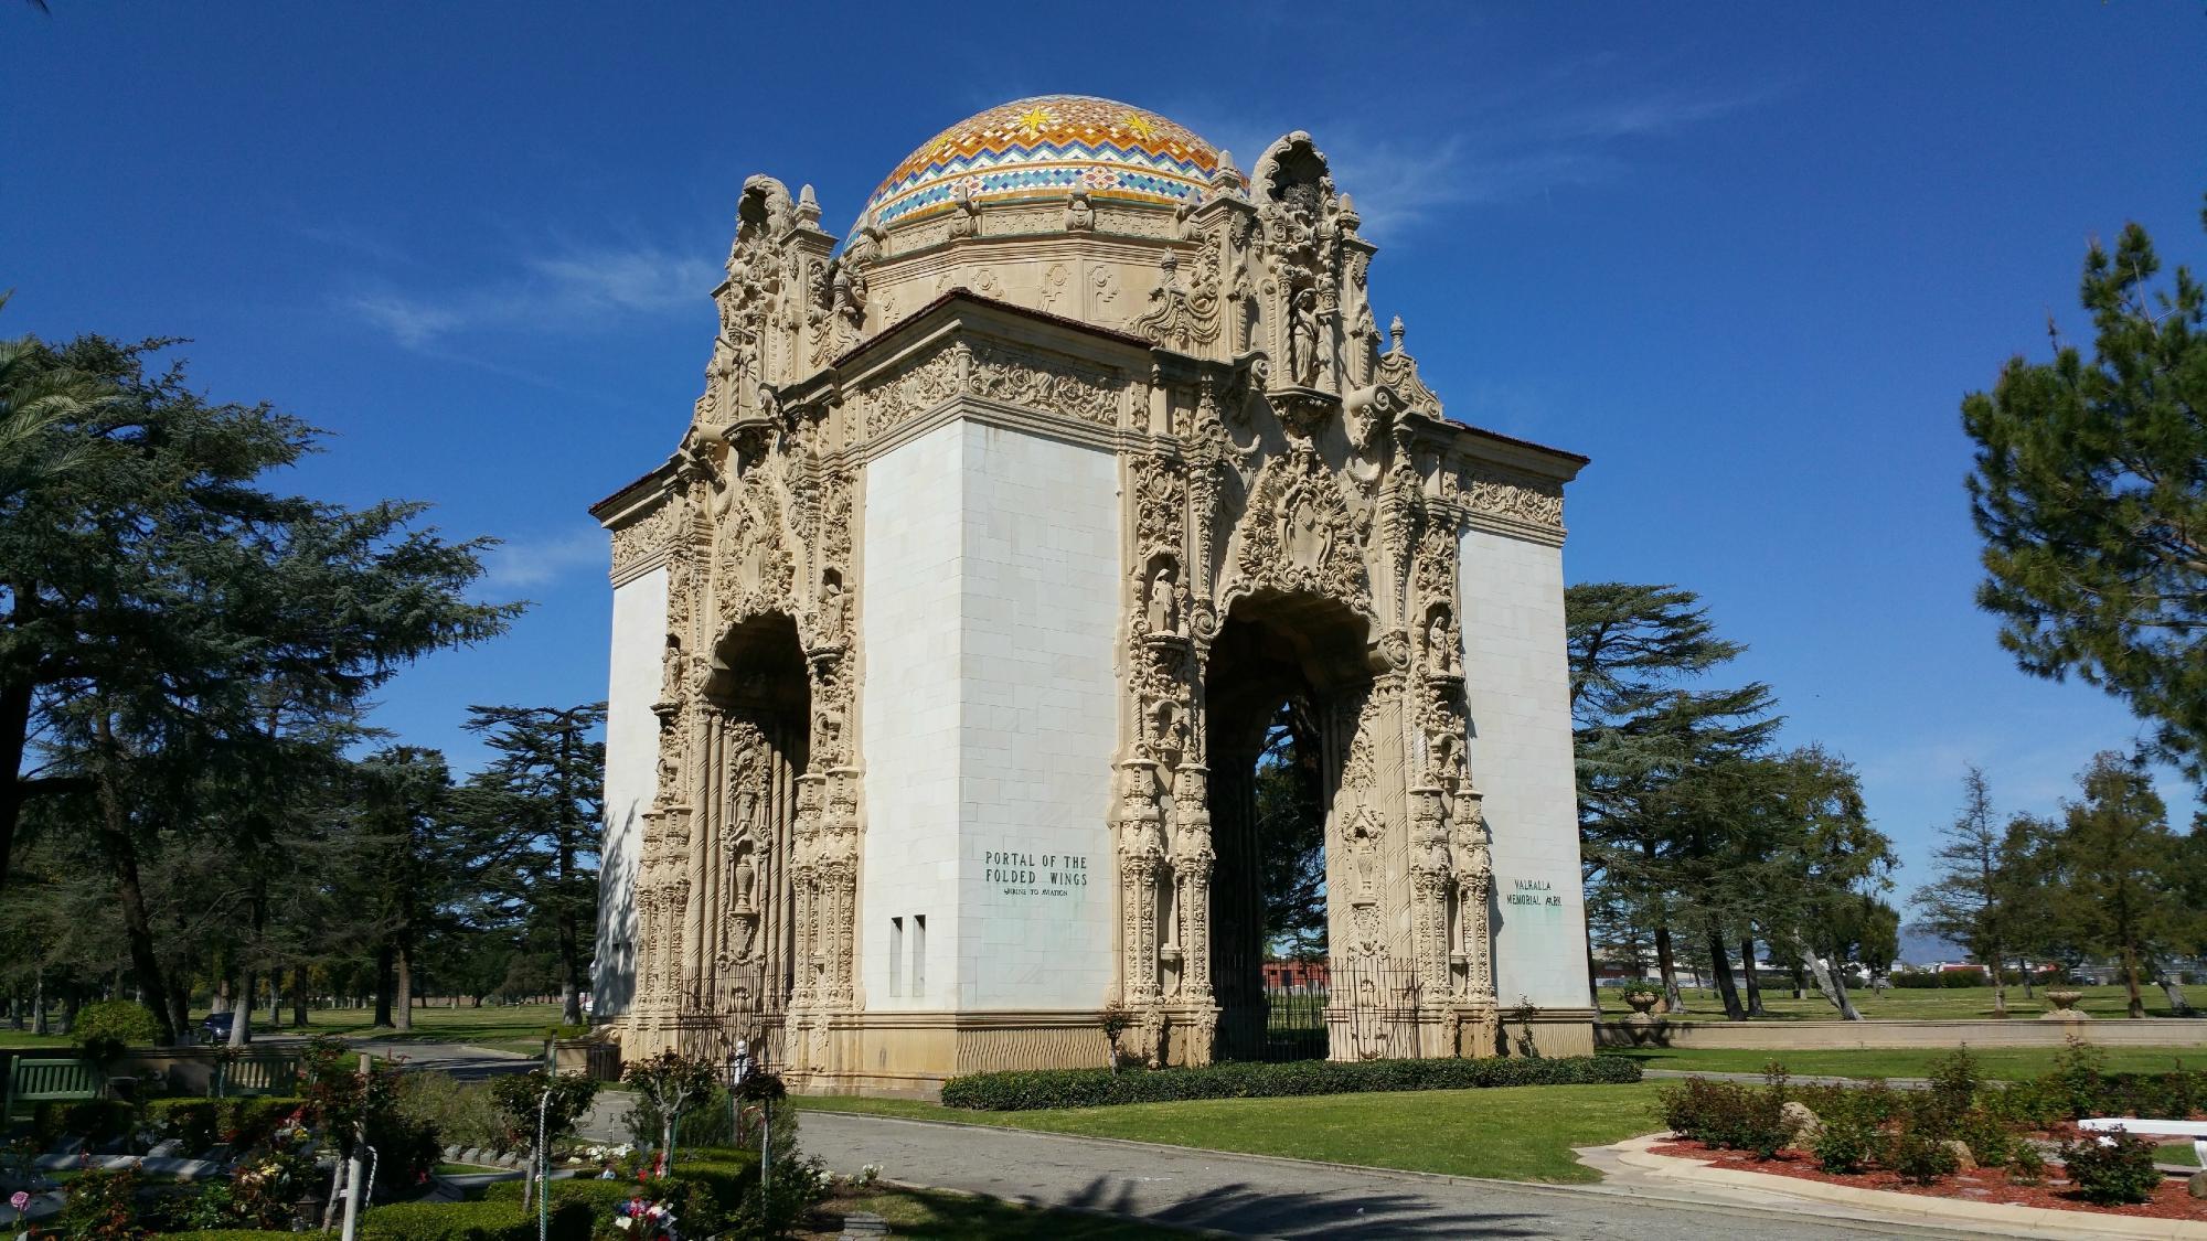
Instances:
[[[1949,1237],[1918,1223],[1772,1215],[1613,1188],[1399,1177],[1055,1133],[803,1113],[801,1144],[841,1173],[1044,1206],[1212,1228],[1236,1237]]]

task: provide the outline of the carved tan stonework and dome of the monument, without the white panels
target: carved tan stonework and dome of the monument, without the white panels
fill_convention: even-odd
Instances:
[[[1514,996],[1470,742],[1510,724],[1470,715],[1461,548],[1552,554],[1585,462],[1443,415],[1401,320],[1379,338],[1375,247],[1302,132],[1245,177],[1163,117],[1026,99],[920,148],[841,252],[819,219],[810,188],[744,185],[691,424],[594,510],[616,585],[667,590],[662,632],[616,632],[664,647],[625,1053],[753,1038],[814,1089],[925,1084],[1097,1062],[1108,1000],[1154,1062],[1234,1053],[1265,954],[1249,704],[1289,682],[1324,753],[1333,972],[1388,967],[1333,989],[1329,1053],[1492,1053]],[[1090,810],[1112,985],[918,1020],[861,983],[881,919],[859,713],[883,709],[861,552],[870,466],[958,422],[1117,462],[1119,738]],[[1576,868],[1576,839],[1547,846]],[[1563,932],[1582,950],[1582,921]]]

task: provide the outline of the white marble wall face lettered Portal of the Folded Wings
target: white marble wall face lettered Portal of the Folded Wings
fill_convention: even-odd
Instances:
[[[1095,1009],[1112,976],[1119,468],[964,435],[960,938],[964,1009]]]

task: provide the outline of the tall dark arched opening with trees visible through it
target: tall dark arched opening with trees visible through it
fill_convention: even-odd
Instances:
[[[1326,1056],[1326,819],[1346,757],[1342,704],[1371,671],[1366,625],[1320,596],[1245,596],[1212,640],[1214,1056]]]

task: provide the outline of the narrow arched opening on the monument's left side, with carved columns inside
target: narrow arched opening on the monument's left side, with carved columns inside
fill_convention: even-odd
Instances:
[[[724,1033],[759,1047],[779,1031],[797,978],[790,861],[812,738],[797,623],[777,612],[733,627],[715,647],[704,702],[706,795],[691,832],[702,861],[695,976]]]

